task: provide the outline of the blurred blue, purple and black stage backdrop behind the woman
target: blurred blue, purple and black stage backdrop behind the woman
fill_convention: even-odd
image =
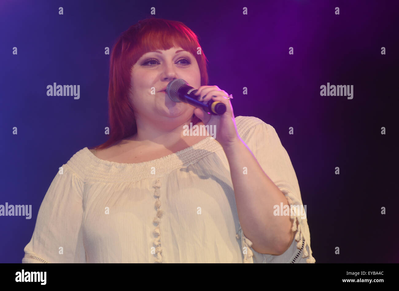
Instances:
[[[104,48],[148,17],[182,21],[198,34],[209,85],[233,94],[235,116],[276,129],[307,205],[316,263],[399,262],[397,1],[117,2],[0,3],[0,204],[32,204],[30,220],[0,217],[0,263],[21,262],[58,167],[107,139]],[[79,84],[80,99],[47,96],[53,82]],[[327,82],[354,85],[354,98],[320,96]]]

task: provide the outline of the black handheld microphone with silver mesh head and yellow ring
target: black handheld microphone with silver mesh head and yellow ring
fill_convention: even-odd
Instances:
[[[226,112],[226,106],[220,101],[209,100],[207,104],[203,104],[198,100],[200,96],[194,95],[197,91],[183,79],[172,80],[166,86],[166,94],[173,102],[188,103],[213,115],[222,115]]]

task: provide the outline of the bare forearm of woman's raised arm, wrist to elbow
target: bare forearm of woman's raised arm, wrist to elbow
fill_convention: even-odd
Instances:
[[[275,216],[274,205],[288,205],[280,189],[263,171],[249,147],[240,139],[223,147],[229,161],[241,228],[258,253],[281,255],[291,245],[290,216]],[[245,169],[247,173],[245,173]]]

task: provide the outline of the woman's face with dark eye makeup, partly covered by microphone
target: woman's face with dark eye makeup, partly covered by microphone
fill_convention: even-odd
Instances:
[[[194,106],[175,103],[162,92],[174,79],[184,79],[196,89],[201,86],[198,63],[190,52],[180,47],[147,52],[132,66],[130,76],[130,102],[136,121],[173,128],[191,118]]]

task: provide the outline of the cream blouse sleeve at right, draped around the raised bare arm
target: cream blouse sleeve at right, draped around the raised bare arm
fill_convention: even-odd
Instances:
[[[291,246],[282,255],[260,254],[252,249],[252,242],[241,232],[242,247],[246,247],[247,255],[244,262],[253,263],[253,256],[263,258],[260,263],[315,263],[310,249],[310,231],[307,223],[306,214],[300,211],[303,205],[299,191],[298,179],[287,151],[280,142],[280,138],[273,126],[266,124],[259,118],[251,117],[257,122],[249,130],[243,133],[241,139],[251,149],[253,155],[261,165],[263,171],[279,187],[280,191],[288,200],[288,204],[296,205],[292,207],[292,231],[295,231],[295,238]],[[299,206],[297,206],[299,205]],[[306,210],[304,206],[302,209]],[[306,213],[306,212],[305,212]],[[298,226],[297,226],[298,222]],[[258,259],[259,260],[259,259]]]

